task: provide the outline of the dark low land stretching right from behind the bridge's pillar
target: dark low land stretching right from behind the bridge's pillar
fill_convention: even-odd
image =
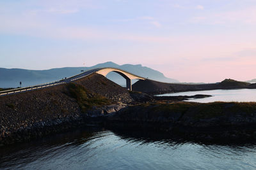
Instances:
[[[256,89],[256,83],[246,83],[226,79],[220,83],[209,84],[182,84],[182,83],[163,83],[154,80],[139,80],[132,85],[132,89],[147,94],[164,94],[170,92],[186,92],[199,90],[216,90],[216,89]]]

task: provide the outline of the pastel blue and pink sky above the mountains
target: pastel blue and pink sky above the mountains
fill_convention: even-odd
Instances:
[[[181,82],[256,78],[256,0],[0,0],[0,67],[142,64]]]

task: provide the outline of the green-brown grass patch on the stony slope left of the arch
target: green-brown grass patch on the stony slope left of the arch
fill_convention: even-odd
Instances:
[[[77,100],[77,103],[83,112],[90,110],[93,106],[110,104],[108,98],[92,94],[81,85],[68,83],[67,89],[70,96]]]

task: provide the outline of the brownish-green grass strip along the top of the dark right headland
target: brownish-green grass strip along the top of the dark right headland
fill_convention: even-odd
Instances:
[[[214,102],[214,103],[145,103],[140,104],[143,108],[151,108],[154,113],[182,113],[195,119],[215,118],[215,117],[248,117],[256,115],[256,103],[253,102]]]

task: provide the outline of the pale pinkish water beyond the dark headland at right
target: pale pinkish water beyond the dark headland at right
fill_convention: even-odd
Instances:
[[[256,102],[256,89],[238,89],[238,90],[205,90],[195,92],[179,92],[172,94],[161,94],[157,96],[193,96],[196,94],[208,94],[212,97],[203,99],[190,99],[199,103],[209,103],[214,101],[237,101],[237,102]]]

